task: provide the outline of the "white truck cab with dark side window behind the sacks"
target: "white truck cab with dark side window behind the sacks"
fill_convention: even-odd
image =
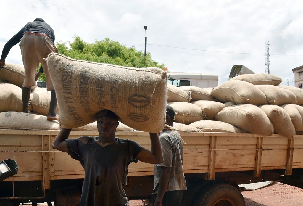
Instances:
[[[200,88],[218,86],[218,75],[202,74],[202,73],[185,73],[171,72],[167,75],[167,83],[181,86],[196,86]]]

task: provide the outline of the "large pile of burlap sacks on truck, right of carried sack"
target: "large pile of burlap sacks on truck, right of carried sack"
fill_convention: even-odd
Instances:
[[[280,83],[275,75],[249,74],[215,88],[168,85],[168,95],[173,91],[174,98],[168,96],[167,104],[174,108],[176,122],[204,132],[277,133],[292,138],[303,131],[303,90]]]

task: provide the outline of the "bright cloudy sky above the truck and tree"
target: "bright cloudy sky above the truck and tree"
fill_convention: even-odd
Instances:
[[[291,69],[303,65],[302,8],[295,0],[2,0],[0,49],[37,17],[54,29],[55,42],[110,38],[142,51],[146,25],[147,51],[172,72],[216,74],[219,84],[233,65],[264,73],[269,41],[271,74],[294,86]],[[22,64],[18,45],[6,62]]]

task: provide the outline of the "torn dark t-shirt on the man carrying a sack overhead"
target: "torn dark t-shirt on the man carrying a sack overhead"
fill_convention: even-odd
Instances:
[[[135,158],[143,147],[132,140],[115,140],[103,147],[93,137],[87,144],[78,139],[65,140],[68,154],[79,160],[85,170],[80,206],[128,205],[123,189],[127,167],[138,161]]]

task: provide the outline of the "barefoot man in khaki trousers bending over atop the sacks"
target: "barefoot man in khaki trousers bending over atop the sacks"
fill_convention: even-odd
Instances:
[[[47,115],[48,120],[56,120],[57,99],[52,79],[49,75],[48,67],[43,58],[46,58],[51,52],[58,52],[55,48],[54,30],[44,22],[42,18],[36,18],[34,22],[28,22],[15,36],[5,44],[0,59],[0,69],[5,65],[11,48],[20,42],[22,61],[25,70],[25,78],[22,85],[22,112],[29,113],[28,101],[35,86],[35,72],[39,63],[45,71],[46,88],[51,91],[51,102]]]

